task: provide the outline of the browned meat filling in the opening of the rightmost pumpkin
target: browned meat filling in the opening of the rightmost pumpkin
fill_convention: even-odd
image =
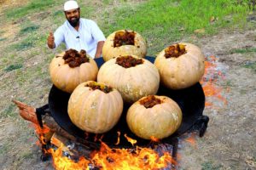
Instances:
[[[175,44],[172,46],[169,46],[168,48],[165,49],[165,57],[166,59],[171,58],[171,57],[179,57],[183,54],[186,54],[186,48],[185,45],[183,44]]]

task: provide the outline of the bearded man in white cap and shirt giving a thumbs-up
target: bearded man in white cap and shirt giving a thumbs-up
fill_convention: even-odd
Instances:
[[[99,58],[106,38],[96,22],[80,18],[79,4],[74,0],[64,4],[64,13],[67,20],[54,34],[49,32],[48,47],[53,49],[65,42],[67,49],[84,49],[92,58]]]

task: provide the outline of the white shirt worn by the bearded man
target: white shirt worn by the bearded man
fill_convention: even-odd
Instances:
[[[80,18],[79,22],[79,31],[74,29],[67,20],[55,31],[55,48],[61,42],[65,42],[67,49],[73,48],[77,51],[84,49],[90,57],[94,58],[97,43],[105,41],[106,38],[95,21]]]

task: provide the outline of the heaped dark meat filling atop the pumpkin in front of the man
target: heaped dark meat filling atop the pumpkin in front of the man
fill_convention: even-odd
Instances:
[[[72,48],[68,49],[65,52],[63,59],[65,60],[65,64],[68,64],[71,68],[89,62],[89,58],[86,56],[86,51],[84,49],[82,49],[80,52]]]

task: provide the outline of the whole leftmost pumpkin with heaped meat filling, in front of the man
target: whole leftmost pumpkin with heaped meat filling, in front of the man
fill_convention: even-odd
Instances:
[[[84,50],[57,54],[49,65],[49,75],[56,88],[72,93],[79,83],[96,80],[98,66]]]

